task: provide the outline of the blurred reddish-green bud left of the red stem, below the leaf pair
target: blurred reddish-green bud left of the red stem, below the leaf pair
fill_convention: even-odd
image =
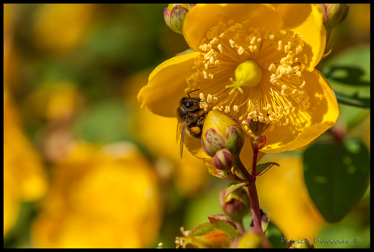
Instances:
[[[227,195],[225,199],[225,191],[226,189],[221,190],[219,198],[222,210],[232,220],[241,220],[251,209],[248,192],[243,187],[240,187]]]

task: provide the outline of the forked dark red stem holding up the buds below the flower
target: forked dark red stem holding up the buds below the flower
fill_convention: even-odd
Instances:
[[[258,153],[258,151],[257,151],[257,153]],[[254,155],[253,162],[256,165],[257,155]],[[240,159],[235,160],[235,165],[237,167],[239,167],[240,174],[243,175],[244,178],[246,180],[248,180],[248,182],[249,182],[249,184],[246,187],[248,188],[249,200],[251,201],[254,228],[257,228],[257,229],[261,230],[261,232],[262,232],[260,205],[258,204],[257,189],[256,189],[256,184],[255,184],[256,178],[252,177],[251,174],[249,174],[249,172],[244,167],[244,165],[243,165],[243,163]],[[253,171],[253,167],[252,167],[252,171]]]

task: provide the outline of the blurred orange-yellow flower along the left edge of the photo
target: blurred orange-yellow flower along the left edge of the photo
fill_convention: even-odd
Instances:
[[[4,237],[16,222],[21,201],[35,201],[47,191],[42,160],[19,125],[4,89]]]

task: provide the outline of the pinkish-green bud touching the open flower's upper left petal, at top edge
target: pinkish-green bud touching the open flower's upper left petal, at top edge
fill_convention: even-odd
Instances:
[[[166,25],[176,33],[183,35],[183,21],[186,14],[194,3],[169,3],[164,9],[164,20]]]

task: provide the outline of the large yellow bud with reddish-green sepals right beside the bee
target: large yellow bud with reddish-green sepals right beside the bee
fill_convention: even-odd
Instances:
[[[201,136],[203,148],[213,157],[222,148],[233,156],[239,156],[244,145],[244,132],[240,124],[231,116],[216,110],[206,115]]]

